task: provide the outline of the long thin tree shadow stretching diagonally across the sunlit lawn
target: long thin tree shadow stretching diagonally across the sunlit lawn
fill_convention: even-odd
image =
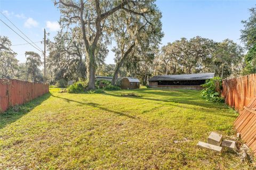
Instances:
[[[73,101],[73,102],[76,102],[76,103],[79,103],[79,104],[82,104],[82,105],[88,105],[88,106],[92,106],[92,107],[97,107],[99,109],[102,109],[103,111],[107,111],[107,112],[111,112],[111,113],[115,113],[115,114],[118,114],[120,116],[126,116],[126,117],[129,117],[129,118],[135,118],[134,116],[131,116],[131,115],[128,115],[126,113],[123,113],[123,112],[117,112],[117,111],[111,111],[110,109],[107,109],[105,107],[102,107],[100,106],[99,104],[97,103],[83,103],[81,101],[76,101],[76,100],[71,100],[71,99],[67,99],[67,98],[63,98],[63,97],[59,97],[59,96],[54,96],[52,95],[53,97],[57,97],[57,98],[60,98],[60,99],[64,99],[66,100],[67,102],[70,102],[70,101]]]

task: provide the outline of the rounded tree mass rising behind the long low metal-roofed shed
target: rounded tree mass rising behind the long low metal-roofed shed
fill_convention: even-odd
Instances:
[[[181,38],[163,46],[155,58],[154,74],[191,74],[215,72],[219,77],[239,74],[243,49],[233,40],[214,42],[211,39]]]

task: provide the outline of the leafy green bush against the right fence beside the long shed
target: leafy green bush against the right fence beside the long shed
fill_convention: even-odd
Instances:
[[[214,101],[217,103],[223,103],[224,99],[220,96],[221,78],[214,77],[210,80],[206,80],[205,84],[202,84],[204,89],[201,91],[201,96],[207,101]]]

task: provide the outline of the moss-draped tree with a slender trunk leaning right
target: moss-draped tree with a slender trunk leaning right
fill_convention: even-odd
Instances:
[[[114,26],[114,40],[116,47],[113,48],[115,53],[116,68],[111,84],[114,86],[117,81],[118,73],[122,66],[129,69],[136,69],[139,62],[139,57],[143,53],[142,50],[150,50],[158,48],[163,32],[162,23],[160,21],[162,15],[158,11],[156,5],[151,5],[150,10],[145,17],[138,17],[134,13],[126,13],[119,11],[116,17],[119,17],[119,22]],[[140,55],[137,55],[140,53]],[[145,60],[147,58],[144,58]],[[132,63],[137,65],[132,67]]]

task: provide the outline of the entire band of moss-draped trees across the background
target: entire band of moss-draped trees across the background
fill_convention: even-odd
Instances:
[[[215,72],[222,78],[256,73],[256,9],[242,21],[242,48],[233,40],[181,38],[159,48],[162,14],[155,1],[56,1],[61,30],[47,49],[47,80],[89,80],[95,75],[137,77],[143,84],[153,75]],[[115,64],[106,64],[112,50]],[[7,37],[0,39],[0,77],[42,81],[40,56],[26,52],[19,63]]]

